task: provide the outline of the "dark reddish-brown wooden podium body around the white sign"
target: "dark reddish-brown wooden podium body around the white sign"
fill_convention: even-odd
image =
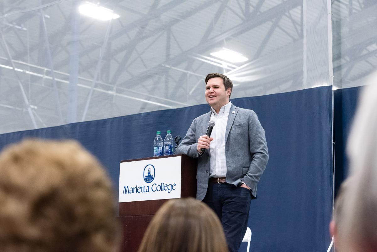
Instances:
[[[181,198],[196,197],[197,160],[186,155],[170,155],[162,157],[123,160],[124,162],[151,160],[159,158],[181,157]],[[119,203],[119,220],[123,230],[121,252],[137,252],[144,232],[159,207],[169,199],[146,200]]]

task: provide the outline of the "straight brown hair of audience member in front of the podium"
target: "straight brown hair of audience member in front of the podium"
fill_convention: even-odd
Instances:
[[[138,252],[228,252],[215,213],[193,198],[167,201],[153,217]]]

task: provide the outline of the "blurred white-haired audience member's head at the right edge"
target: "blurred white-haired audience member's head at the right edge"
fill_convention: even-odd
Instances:
[[[377,251],[377,82],[365,86],[347,144],[352,184],[339,223],[342,252]],[[338,245],[339,247],[339,245]]]

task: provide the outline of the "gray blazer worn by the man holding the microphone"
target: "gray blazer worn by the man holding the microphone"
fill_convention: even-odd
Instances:
[[[234,113],[232,113],[234,111]],[[197,145],[201,135],[205,135],[211,111],[196,117],[176,154],[198,158],[196,175],[196,198],[203,200],[207,193],[210,162],[208,150],[198,154]],[[231,105],[227,129],[225,131],[225,155],[227,161],[227,183],[240,186],[241,181],[251,189],[253,198],[257,195],[257,183],[268,161],[267,142],[257,115],[250,109]]]

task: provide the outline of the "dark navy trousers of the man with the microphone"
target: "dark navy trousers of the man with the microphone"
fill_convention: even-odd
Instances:
[[[229,252],[238,252],[247,229],[250,190],[233,184],[210,182],[203,202],[218,215],[224,228]]]

